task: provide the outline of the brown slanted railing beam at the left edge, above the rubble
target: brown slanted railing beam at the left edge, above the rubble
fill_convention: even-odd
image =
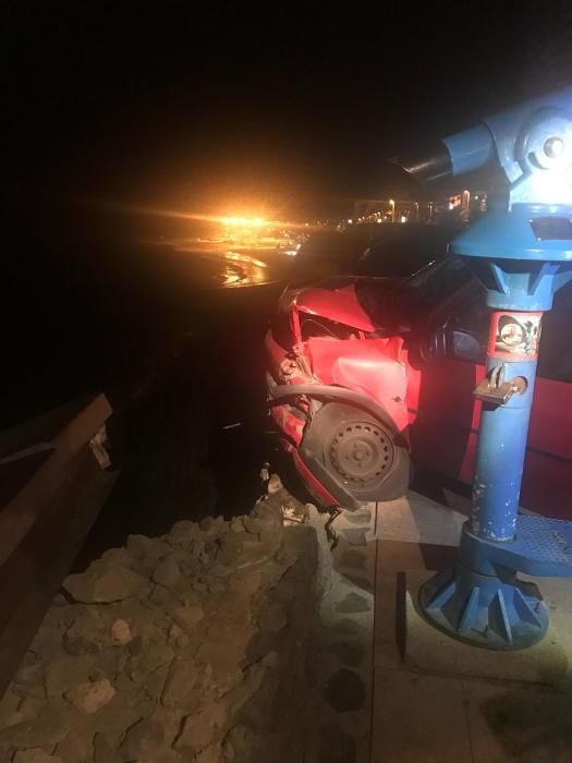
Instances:
[[[111,412],[98,395],[0,433],[0,695],[117,479]]]

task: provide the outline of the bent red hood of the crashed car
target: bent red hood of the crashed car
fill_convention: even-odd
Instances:
[[[300,290],[295,304],[301,313],[385,334],[410,330],[418,313],[415,290],[394,278],[330,278]]]

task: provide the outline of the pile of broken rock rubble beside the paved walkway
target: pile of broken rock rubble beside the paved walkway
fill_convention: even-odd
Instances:
[[[0,705],[0,761],[302,760],[317,546],[280,502],[68,577]]]

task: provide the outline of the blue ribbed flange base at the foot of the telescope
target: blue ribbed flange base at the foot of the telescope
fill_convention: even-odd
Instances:
[[[537,586],[515,573],[500,579],[459,565],[421,588],[419,606],[439,630],[490,650],[532,646],[548,629],[548,609]]]

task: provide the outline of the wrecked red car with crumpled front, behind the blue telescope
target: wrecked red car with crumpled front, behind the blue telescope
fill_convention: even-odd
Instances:
[[[572,284],[544,318],[521,502],[553,517],[572,494]],[[406,280],[288,290],[266,337],[270,413],[325,506],[402,495],[412,462],[473,476],[489,326],[485,292],[450,255]]]

